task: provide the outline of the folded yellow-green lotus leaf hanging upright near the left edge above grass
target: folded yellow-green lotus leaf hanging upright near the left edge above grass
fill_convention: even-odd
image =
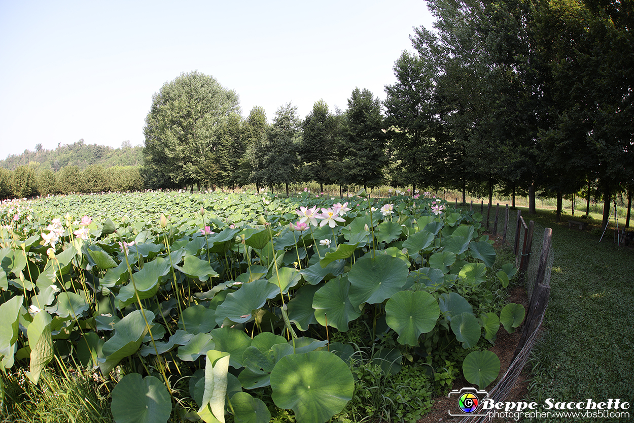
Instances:
[[[53,359],[53,339],[51,339],[51,315],[46,311],[38,312],[27,329],[29,338],[30,364],[27,377],[37,384],[42,369]]]

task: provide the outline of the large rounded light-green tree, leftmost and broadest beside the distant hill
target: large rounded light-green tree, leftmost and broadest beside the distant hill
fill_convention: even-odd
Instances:
[[[145,119],[144,171],[152,187],[205,183],[219,127],[239,113],[238,95],[198,71],[165,83]]]

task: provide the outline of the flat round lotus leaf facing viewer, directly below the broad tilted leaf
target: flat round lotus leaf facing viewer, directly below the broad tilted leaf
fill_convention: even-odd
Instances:
[[[387,300],[385,314],[387,325],[399,335],[398,342],[417,346],[418,337],[436,326],[440,308],[430,293],[401,291]]]

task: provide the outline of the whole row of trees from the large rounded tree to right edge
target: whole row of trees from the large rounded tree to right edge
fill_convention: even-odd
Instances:
[[[606,0],[429,0],[381,102],[355,88],[303,119],[246,117],[238,95],[194,71],[165,83],[145,121],[145,188],[316,181],[447,187],[492,198],[616,195],[631,205],[634,13]]]

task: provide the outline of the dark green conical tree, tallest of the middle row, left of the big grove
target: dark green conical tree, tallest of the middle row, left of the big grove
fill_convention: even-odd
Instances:
[[[341,164],[341,185],[375,187],[384,180],[388,158],[387,135],[381,103],[366,88],[355,88],[348,99],[341,145],[345,152]]]

